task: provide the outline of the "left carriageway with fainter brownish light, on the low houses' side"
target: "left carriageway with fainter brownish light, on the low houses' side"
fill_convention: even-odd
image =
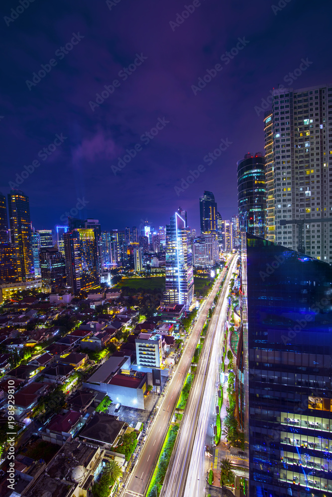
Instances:
[[[121,497],[140,497],[145,493],[151,473],[156,466],[158,456],[163,445],[173,411],[181,393],[187,371],[191,364],[202,328],[205,324],[209,309],[212,306],[224,274],[225,269],[222,270],[213,290],[205,301],[205,304],[197,317],[196,324],[188,338],[178,366],[175,369],[171,380],[168,382],[168,387],[164,393],[158,413],[151,423],[146,441],[140,451],[136,464],[127,479],[125,489],[121,493]]]

